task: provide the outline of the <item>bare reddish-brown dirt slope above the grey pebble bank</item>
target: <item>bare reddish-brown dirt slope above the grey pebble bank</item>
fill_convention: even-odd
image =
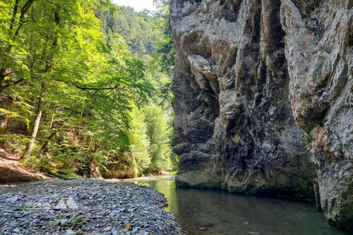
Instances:
[[[19,181],[50,179],[44,173],[24,168],[20,163],[21,155],[0,147],[0,184]]]

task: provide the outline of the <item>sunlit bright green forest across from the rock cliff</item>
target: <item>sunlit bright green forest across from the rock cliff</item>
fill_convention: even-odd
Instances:
[[[32,170],[176,170],[169,3],[0,1],[0,144]]]

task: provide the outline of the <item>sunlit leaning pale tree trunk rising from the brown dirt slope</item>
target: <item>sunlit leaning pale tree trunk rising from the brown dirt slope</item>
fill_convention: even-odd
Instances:
[[[35,141],[35,139],[37,137],[39,123],[40,123],[40,120],[42,118],[43,106],[44,106],[44,97],[45,97],[45,93],[46,93],[47,87],[48,87],[47,82],[43,82],[42,83],[42,94],[41,94],[41,96],[40,96],[40,98],[38,100],[37,111],[36,111],[36,114],[35,114],[33,126],[32,126],[31,133],[30,133],[30,141],[27,143],[27,145],[25,147],[25,151],[24,151],[22,157],[20,158],[20,161],[24,161],[25,159],[30,157],[30,155],[32,154],[34,141]]]

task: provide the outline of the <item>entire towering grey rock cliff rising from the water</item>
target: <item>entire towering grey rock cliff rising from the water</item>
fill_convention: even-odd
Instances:
[[[352,6],[172,0],[178,186],[307,198],[317,177],[353,228]]]

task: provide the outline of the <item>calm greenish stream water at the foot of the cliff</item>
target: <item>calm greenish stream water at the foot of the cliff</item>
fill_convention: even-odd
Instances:
[[[133,180],[165,194],[188,235],[351,235],[332,228],[312,203],[176,188],[172,180]]]

